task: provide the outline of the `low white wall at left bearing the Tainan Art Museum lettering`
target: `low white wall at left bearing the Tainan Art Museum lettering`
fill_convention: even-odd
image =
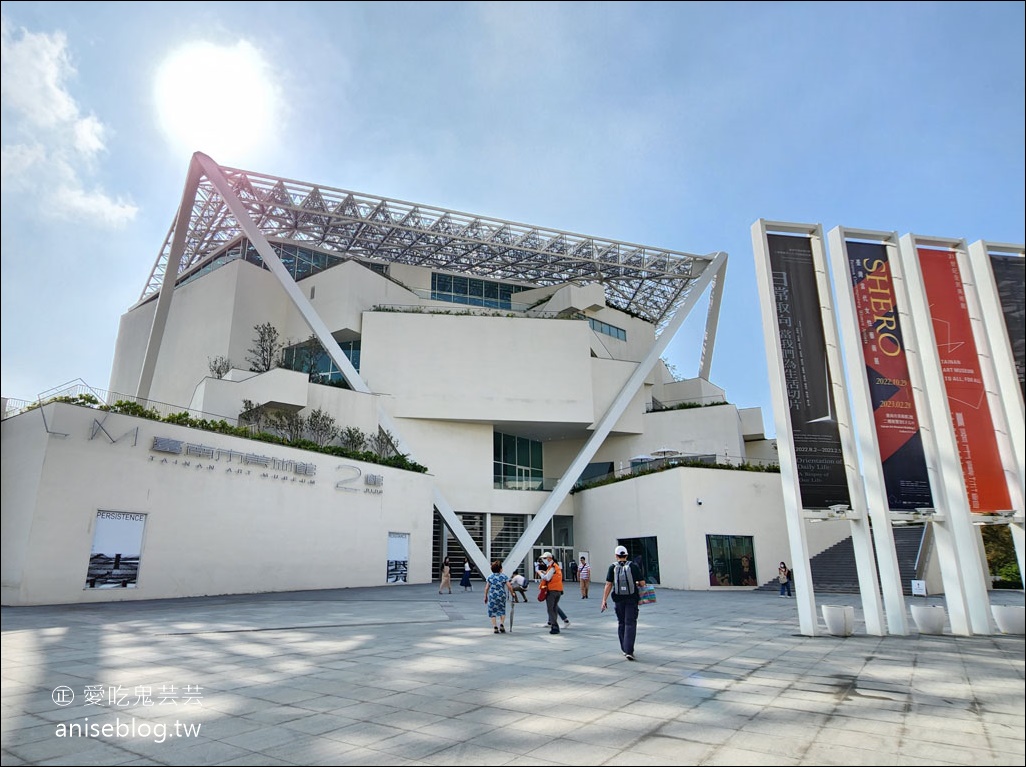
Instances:
[[[112,443],[89,439],[100,411],[46,412],[67,437],[47,436],[35,412],[3,421],[4,605],[381,586],[389,532],[409,533],[409,582],[431,580],[430,477],[118,414],[104,420]],[[235,460],[158,452],[154,437],[235,450]],[[243,463],[244,453],[316,474]],[[338,489],[356,470],[383,483]],[[84,588],[97,511],[148,515],[137,588]]]

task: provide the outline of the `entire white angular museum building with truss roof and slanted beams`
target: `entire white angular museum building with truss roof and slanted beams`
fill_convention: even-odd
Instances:
[[[193,420],[67,397],[5,417],[3,604],[423,583],[444,557],[530,574],[543,550],[601,579],[621,543],[664,588],[765,583],[781,477],[745,469],[774,444],[708,380],[725,258],[197,154],[97,398]],[[677,380],[661,355],[703,299]],[[195,426],[312,414],[415,468]],[[814,527],[813,554],[849,534]]]

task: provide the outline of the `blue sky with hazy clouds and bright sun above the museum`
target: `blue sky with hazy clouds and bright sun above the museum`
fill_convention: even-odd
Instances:
[[[4,2],[2,393],[107,388],[119,318],[198,150],[368,195],[725,250],[711,377],[761,406],[772,434],[751,225],[1026,240],[1024,8]],[[200,69],[175,92],[167,62],[183,49]],[[665,355],[684,376],[696,314]]]

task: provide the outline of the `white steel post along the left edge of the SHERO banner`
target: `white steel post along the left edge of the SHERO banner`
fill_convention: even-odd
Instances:
[[[879,566],[880,589],[883,593],[887,629],[891,634],[908,634],[908,616],[905,608],[905,594],[902,590],[901,571],[898,567],[898,552],[895,549],[894,529],[891,526],[887,492],[883,481],[883,466],[880,461],[880,444],[876,434],[873,402],[865,376],[866,358],[862,347],[862,329],[858,322],[855,297],[852,292],[851,267],[849,266],[846,240],[876,240],[886,247],[889,261],[898,259],[898,234],[895,232],[859,232],[835,227],[830,230],[830,263],[838,304],[837,320],[844,342],[847,369],[852,377],[849,391],[852,393],[853,410],[858,423],[859,452],[865,479],[865,492],[870,519],[873,521],[872,535],[876,542],[876,562]],[[898,312],[898,308],[894,308]],[[902,328],[905,331],[905,328]]]

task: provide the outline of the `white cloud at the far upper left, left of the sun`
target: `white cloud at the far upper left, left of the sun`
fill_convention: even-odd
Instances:
[[[66,83],[75,74],[63,33],[11,30],[2,23],[0,104],[4,192],[16,191],[45,217],[118,228],[137,208],[89,184],[107,128],[82,114]]]

